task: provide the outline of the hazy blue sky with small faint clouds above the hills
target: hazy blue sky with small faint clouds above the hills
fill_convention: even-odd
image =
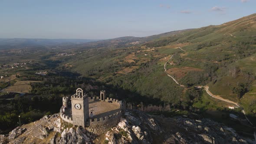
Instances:
[[[150,36],[253,13],[256,0],[1,0],[0,38]]]

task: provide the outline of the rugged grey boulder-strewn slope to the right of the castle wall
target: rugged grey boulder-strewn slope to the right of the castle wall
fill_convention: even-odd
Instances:
[[[121,134],[120,137],[113,137]],[[154,138],[153,138],[154,137]],[[209,119],[149,116],[141,111],[127,111],[118,125],[108,131],[109,144],[128,141],[134,144],[246,144],[232,128]]]

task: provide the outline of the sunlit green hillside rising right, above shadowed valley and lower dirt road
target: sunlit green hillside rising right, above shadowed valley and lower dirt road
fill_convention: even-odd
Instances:
[[[188,89],[208,85],[214,95],[256,115],[256,14],[218,26],[92,43],[97,49],[81,46],[59,69],[184,108],[190,105],[184,102]],[[167,73],[185,88],[165,74],[165,62]]]

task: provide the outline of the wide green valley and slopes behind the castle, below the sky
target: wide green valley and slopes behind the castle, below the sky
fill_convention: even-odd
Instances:
[[[29,123],[58,112],[61,97],[81,87],[92,97],[108,88],[109,97],[136,109],[141,102],[144,107],[170,105],[169,111],[149,113],[194,113],[254,139],[256,14],[147,37],[2,47],[9,49],[0,49],[0,107],[7,109],[0,111],[1,133],[10,131],[4,125],[17,126],[18,115]],[[52,106],[43,107],[46,103]]]

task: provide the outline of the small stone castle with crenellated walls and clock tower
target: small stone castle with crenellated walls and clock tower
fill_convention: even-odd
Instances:
[[[70,101],[71,100],[71,101]],[[74,95],[62,98],[65,112],[60,108],[60,118],[75,126],[82,126],[95,134],[102,134],[117,125],[121,118],[122,101],[106,98],[106,92],[100,91],[100,96],[88,97],[77,88]],[[92,112],[93,118],[90,117]]]

